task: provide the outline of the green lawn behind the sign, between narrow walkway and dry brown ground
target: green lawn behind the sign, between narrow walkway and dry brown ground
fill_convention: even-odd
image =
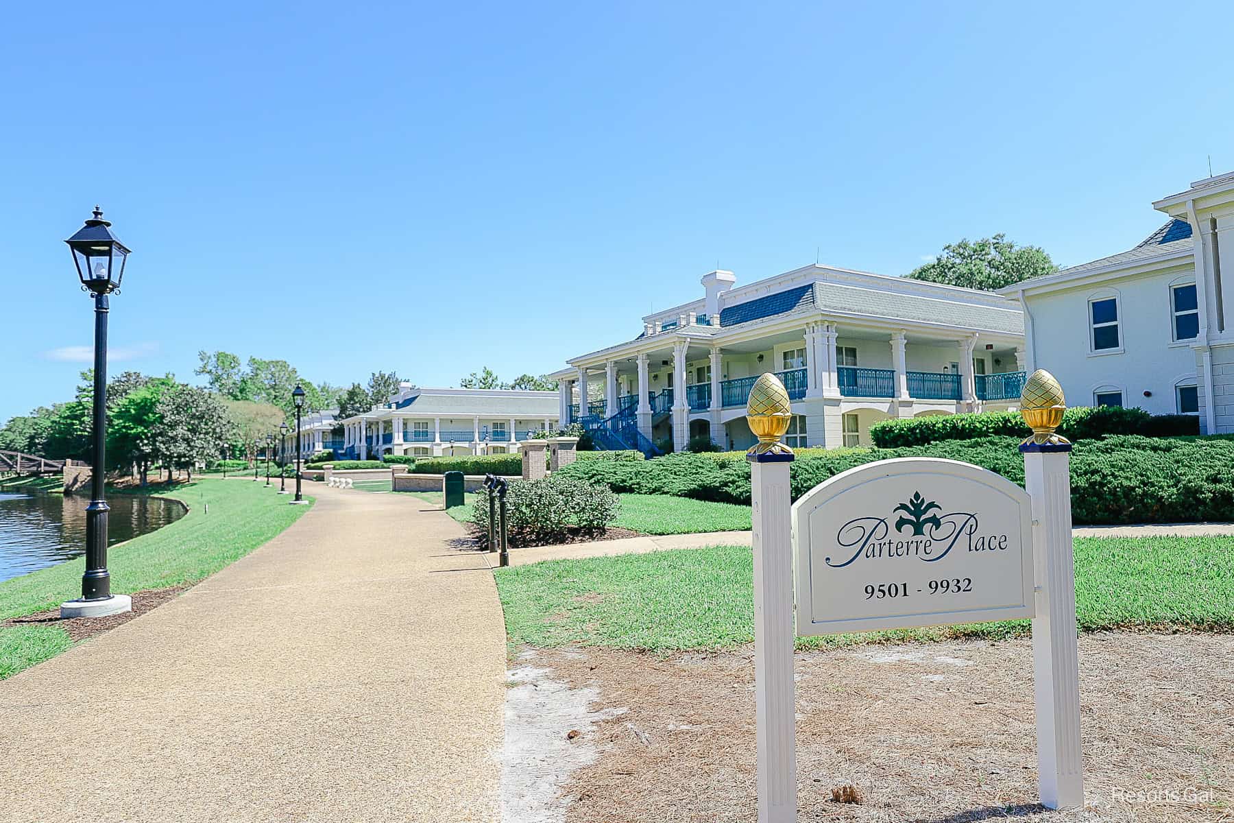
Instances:
[[[1234,538],[1077,538],[1081,631],[1234,631]],[[670,651],[754,640],[749,547],[713,547],[496,570],[512,643]],[[997,639],[1028,621],[798,638],[798,648]]]

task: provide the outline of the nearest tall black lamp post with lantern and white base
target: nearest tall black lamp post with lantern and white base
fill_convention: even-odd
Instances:
[[[94,216],[78,233],[64,241],[73,252],[81,290],[94,297],[94,465],[90,474],[90,505],[85,510],[85,574],[81,600],[60,607],[62,617],[93,617],[127,612],[131,600],[111,593],[107,573],[107,501],[104,492],[107,436],[107,295],[120,292],[128,247],[111,233],[111,223],[94,207]],[[99,602],[110,601],[110,602]],[[74,603],[77,606],[74,606]]]

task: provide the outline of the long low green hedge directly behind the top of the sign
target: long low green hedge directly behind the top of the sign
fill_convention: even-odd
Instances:
[[[964,460],[1023,485],[1024,460],[1018,444],[1013,437],[988,437],[811,454],[792,463],[792,496],[800,497],[845,469],[897,457]],[[749,465],[712,455],[671,454],[644,463],[580,460],[560,474],[605,484],[617,494],[750,502]],[[1232,521],[1234,439],[1128,434],[1080,440],[1071,453],[1071,503],[1076,523]]]

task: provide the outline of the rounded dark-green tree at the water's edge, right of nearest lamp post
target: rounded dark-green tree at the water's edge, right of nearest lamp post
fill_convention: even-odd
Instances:
[[[158,421],[151,427],[146,445],[167,466],[168,480],[173,468],[188,469],[191,480],[194,464],[217,455],[234,429],[225,401],[197,386],[169,387],[159,397],[154,413]]]

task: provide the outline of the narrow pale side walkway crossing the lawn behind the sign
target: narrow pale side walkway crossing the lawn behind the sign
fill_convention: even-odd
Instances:
[[[1234,523],[1157,523],[1148,526],[1077,526],[1075,537],[1161,537],[1161,536],[1234,536]],[[595,540],[565,545],[536,545],[510,550],[510,565],[523,566],[540,560],[563,558],[603,558],[616,554],[644,554],[666,549],[700,549],[707,545],[752,545],[752,532],[706,532],[702,534],[664,534],[627,537],[619,540]],[[489,554],[490,566],[497,555]]]

